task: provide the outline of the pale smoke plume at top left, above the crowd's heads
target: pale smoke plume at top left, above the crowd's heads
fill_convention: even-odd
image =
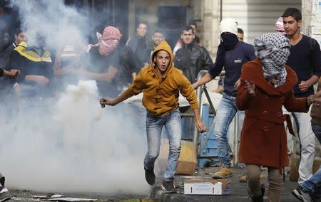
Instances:
[[[29,44],[37,41],[37,33],[46,36],[46,47],[52,50],[66,43],[87,43],[91,23],[86,10],[66,6],[63,1],[11,0],[10,6],[19,10],[21,28],[28,34]]]

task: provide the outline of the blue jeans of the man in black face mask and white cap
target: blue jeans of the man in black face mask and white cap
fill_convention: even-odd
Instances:
[[[235,117],[238,109],[235,104],[236,97],[225,95],[218,105],[218,111],[215,117],[215,137],[218,142],[218,157],[220,163],[230,166],[230,154],[228,152],[228,127]]]

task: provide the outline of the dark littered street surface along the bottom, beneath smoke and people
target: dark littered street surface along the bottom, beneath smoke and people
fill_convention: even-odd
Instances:
[[[200,169],[195,173],[195,177],[199,176],[208,177],[207,172],[213,172],[217,169],[216,167]],[[234,169],[234,176],[230,178],[232,182],[231,193],[228,196],[194,196],[194,195],[184,195],[183,194],[183,181],[185,179],[190,179],[191,176],[176,176],[176,186],[178,187],[178,192],[175,194],[166,194],[159,190],[161,185],[161,178],[158,178],[156,185],[153,186],[151,194],[146,193],[145,196],[140,195],[128,195],[126,193],[118,193],[113,196],[104,195],[103,193],[63,193],[65,197],[75,197],[75,198],[96,198],[101,201],[250,201],[248,198],[247,185],[245,183],[240,183],[238,180],[243,174],[243,169]],[[263,171],[263,182],[267,182],[267,171]],[[290,181],[289,176],[285,179],[285,190],[282,193],[282,201],[297,201],[294,196],[292,196],[291,191],[297,186],[295,181]],[[32,196],[46,196],[52,195],[53,193],[37,193],[34,191],[12,191],[14,198],[11,201],[39,201],[46,200],[41,198],[32,198]],[[59,193],[60,194],[60,193]],[[48,198],[47,198],[48,199]],[[59,200],[57,200],[59,201]],[[61,200],[62,201],[62,200]]]

